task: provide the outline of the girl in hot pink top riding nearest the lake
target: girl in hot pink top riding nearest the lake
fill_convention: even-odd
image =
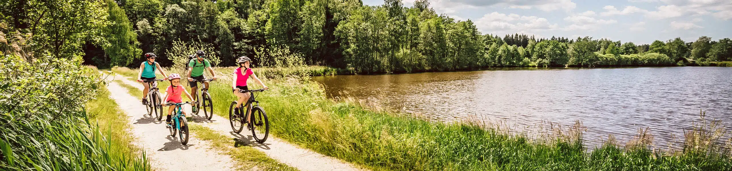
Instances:
[[[236,100],[236,107],[240,107],[245,100],[249,99],[250,94],[242,94],[239,92],[239,90],[249,90],[249,88],[247,88],[247,79],[249,79],[249,77],[254,78],[254,80],[265,90],[269,89],[267,86],[264,86],[262,80],[259,80],[257,75],[252,72],[252,69],[250,68],[251,61],[252,60],[246,56],[236,59],[236,64],[239,65],[239,68],[234,69],[234,79],[231,81],[231,88],[234,89],[234,95],[239,97],[239,100]],[[249,121],[249,118],[247,118],[247,121]]]

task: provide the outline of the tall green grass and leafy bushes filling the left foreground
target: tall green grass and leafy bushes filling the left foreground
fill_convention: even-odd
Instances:
[[[84,106],[103,84],[81,58],[0,63],[0,170],[149,170],[91,123]]]

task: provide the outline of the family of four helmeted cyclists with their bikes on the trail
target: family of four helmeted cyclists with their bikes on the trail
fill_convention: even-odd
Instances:
[[[191,92],[191,94],[193,94],[193,96],[191,96],[191,94],[188,93],[186,88],[183,88],[183,86],[181,85],[181,79],[183,78],[181,75],[179,75],[177,73],[171,73],[170,75],[167,75],[167,77],[164,77],[163,79],[156,79],[156,77],[155,77],[156,72],[160,72],[161,75],[166,75],[165,71],[163,71],[163,67],[161,67],[160,64],[157,64],[157,62],[155,62],[155,58],[157,58],[157,56],[155,56],[154,53],[146,53],[144,55],[144,57],[146,58],[146,61],[144,61],[142,64],[140,64],[140,72],[138,73],[138,80],[137,80],[138,82],[143,83],[143,86],[145,87],[142,92],[142,104],[148,106],[149,108],[154,108],[154,109],[149,109],[149,113],[152,113],[152,110],[155,110],[155,113],[158,114],[157,119],[159,121],[162,118],[161,116],[163,114],[163,107],[170,106],[170,107],[168,107],[168,111],[167,111],[168,115],[166,116],[166,119],[165,119],[165,123],[166,123],[165,127],[168,129],[171,129],[171,135],[173,135],[173,136],[175,136],[175,132],[176,132],[176,130],[173,130],[173,129],[178,129],[179,130],[178,132],[181,133],[181,138],[184,138],[184,136],[185,136],[185,139],[186,139],[185,141],[187,142],[187,126],[186,126],[187,122],[185,121],[186,113],[184,111],[182,111],[181,106],[182,106],[182,104],[192,104],[191,112],[198,113],[198,110],[200,110],[198,107],[201,106],[201,105],[198,105],[198,102],[203,101],[202,102],[204,104],[203,108],[205,109],[206,106],[209,107],[207,109],[209,111],[206,111],[204,113],[207,113],[206,117],[208,119],[211,119],[211,116],[209,116],[208,113],[212,113],[212,104],[210,104],[211,103],[210,96],[206,91],[209,88],[209,81],[217,80],[216,72],[214,72],[214,69],[211,67],[211,64],[209,63],[209,61],[206,60],[206,53],[203,52],[203,50],[198,50],[195,54],[190,55],[189,56],[190,60],[187,62],[185,72],[187,72],[186,78],[188,81],[188,85],[190,86],[190,92]],[[239,67],[234,69],[234,72],[232,73],[234,79],[232,80],[231,88],[232,88],[234,95],[236,95],[239,99],[236,100],[235,102],[232,102],[232,106],[231,106],[232,108],[230,109],[229,120],[231,121],[232,129],[234,129],[234,131],[238,133],[238,132],[241,132],[243,123],[251,122],[250,120],[255,119],[253,116],[247,117],[247,119],[243,119],[244,116],[242,115],[244,113],[248,114],[248,113],[253,112],[252,111],[253,107],[251,107],[251,106],[244,105],[245,107],[247,107],[247,109],[248,109],[247,111],[244,111],[242,109],[242,104],[244,104],[244,102],[246,100],[249,100],[249,101],[246,101],[247,104],[249,104],[250,102],[253,102],[252,101],[253,100],[253,97],[252,97],[253,91],[249,90],[249,88],[247,87],[247,79],[249,77],[252,77],[255,80],[255,82],[257,82],[260,86],[263,87],[261,89],[254,90],[254,91],[264,91],[269,88],[267,86],[264,86],[264,83],[262,83],[262,81],[259,80],[259,78],[254,74],[254,72],[252,72],[252,69],[250,68],[250,65],[251,65],[250,58],[248,58],[246,56],[241,56],[236,59],[236,65]],[[209,73],[211,73],[211,76],[212,76],[211,79],[206,79],[206,77],[203,76],[203,73],[205,71],[208,71]],[[163,80],[168,80],[171,83],[171,86],[168,86],[168,88],[165,89],[165,95],[162,98],[162,99],[165,99],[164,101],[162,101],[165,103],[160,102],[160,100],[162,100],[162,99],[160,99],[160,95],[157,94],[157,88],[155,88],[157,86],[157,84],[155,84],[155,81],[163,81]],[[197,92],[198,83],[201,83],[201,86],[203,86],[201,88],[202,92]],[[151,94],[151,92],[150,92],[151,90],[155,91],[152,93],[153,96],[149,96]],[[203,95],[198,96],[197,93],[201,93]],[[192,102],[183,103],[183,100],[182,100],[183,94],[185,94],[188,97],[188,99],[191,99]],[[153,98],[153,99],[151,99],[151,98]],[[206,101],[206,100],[208,100],[208,101]],[[208,102],[208,104],[206,104],[206,102]],[[158,109],[159,109],[160,113],[157,113]],[[258,107],[257,109],[261,110],[261,107]],[[258,112],[264,113],[264,110],[258,111]],[[176,114],[181,115],[183,121],[179,121],[179,119],[176,118],[178,116]],[[172,120],[171,120],[171,115],[173,115]],[[242,116],[240,116],[240,115],[242,115]],[[259,125],[261,126],[261,118],[258,118],[258,120],[260,120]],[[266,115],[264,115],[264,120],[266,121]],[[238,123],[234,123],[234,122],[238,122]],[[238,131],[236,130],[235,125],[239,127]],[[252,127],[250,127],[250,129],[253,130]],[[269,123],[267,123],[267,126],[266,126],[266,133],[264,134],[265,138],[266,138],[266,134],[268,132],[269,132]],[[253,130],[253,133],[254,133],[254,130]],[[264,140],[262,140],[262,141],[264,141]],[[184,142],[184,144],[185,144],[185,142]]]

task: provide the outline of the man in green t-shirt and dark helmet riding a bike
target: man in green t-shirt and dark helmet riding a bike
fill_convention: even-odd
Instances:
[[[214,69],[211,67],[211,63],[209,63],[209,60],[204,59],[203,57],[206,57],[206,53],[203,52],[203,50],[198,50],[195,52],[196,58],[190,59],[188,61],[188,85],[190,85],[190,91],[193,94],[193,100],[198,102],[198,96],[195,95],[197,88],[198,88],[198,82],[195,82],[194,80],[206,80],[206,77],[203,77],[203,70],[209,70],[211,72],[211,76],[213,80],[216,80],[216,74],[214,72]],[[209,88],[209,82],[204,82],[204,85],[206,85],[206,88]],[[192,112],[195,113],[196,105],[193,105],[191,107]]]

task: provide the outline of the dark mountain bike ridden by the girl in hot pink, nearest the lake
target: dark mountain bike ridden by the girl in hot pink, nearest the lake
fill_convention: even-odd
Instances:
[[[229,123],[231,123],[231,129],[236,133],[242,132],[242,129],[244,129],[244,123],[247,123],[247,129],[252,130],[254,140],[259,143],[264,143],[269,135],[269,120],[267,119],[267,114],[264,113],[264,109],[259,106],[259,102],[254,96],[254,92],[261,91],[264,91],[264,89],[239,90],[239,92],[244,94],[250,93],[249,100],[245,105],[242,105],[242,107],[239,108],[235,108],[236,101],[231,102],[231,105],[229,105]],[[256,104],[252,105],[253,103]],[[244,106],[246,106],[247,111],[244,111]],[[245,113],[245,115],[241,115],[242,113]],[[252,113],[253,115],[250,115]],[[247,119],[245,119],[246,117],[250,118],[250,121],[247,121]],[[264,129],[264,137],[260,138],[257,136],[257,129]],[[262,134],[260,134],[260,136],[261,135]]]

